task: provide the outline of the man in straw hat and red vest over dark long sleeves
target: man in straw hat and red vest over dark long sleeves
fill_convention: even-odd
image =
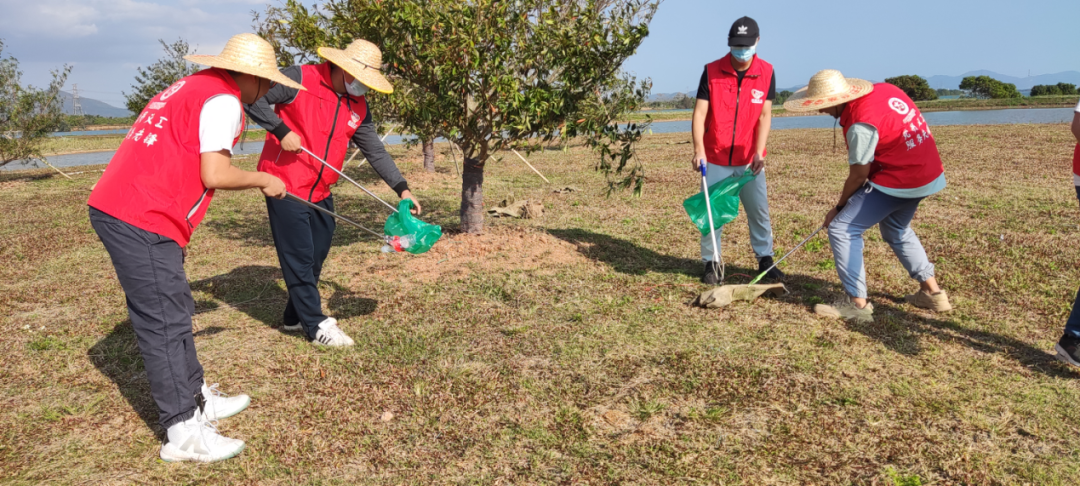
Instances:
[[[278,85],[247,105],[247,114],[267,130],[259,171],[280,177],[289,192],[334,211],[330,186],[337,183],[337,173],[300,148],[341,170],[351,140],[382,180],[402,199],[411,199],[419,213],[420,203],[379,140],[367,109],[369,89],[393,92],[380,72],[382,52],[368,41],[355,40],[345,50],[319,48],[319,55],[328,62],[282,70],[307,91]],[[319,295],[319,276],[336,221],[313,208],[273,198],[267,198],[267,211],[288,289],[282,328],[302,330],[316,346],[352,346],[352,338],[338,327],[337,320],[323,313]]]

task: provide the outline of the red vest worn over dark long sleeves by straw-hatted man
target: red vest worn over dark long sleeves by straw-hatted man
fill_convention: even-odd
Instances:
[[[367,100],[363,96],[338,97],[329,63],[300,69],[308,91],[297,94],[293,103],[274,106],[274,112],[300,136],[305,148],[340,171],[349,139],[367,116]],[[271,133],[267,133],[258,167],[285,183],[289,192],[311,202],[328,198],[330,186],[338,179],[337,173],[311,156],[282,150],[281,141]]]

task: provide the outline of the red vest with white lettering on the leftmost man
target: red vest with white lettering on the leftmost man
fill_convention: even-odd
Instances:
[[[203,186],[199,116],[215,96],[240,103],[240,86],[222,69],[177,81],[147,104],[90,193],[93,207],[136,228],[170,238],[181,247],[214,198]],[[241,114],[243,127],[243,114]],[[240,134],[232,143],[235,145]]]

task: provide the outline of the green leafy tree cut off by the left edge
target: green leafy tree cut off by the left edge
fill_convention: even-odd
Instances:
[[[64,123],[59,93],[69,72],[69,66],[53,70],[53,80],[44,90],[23,86],[18,60],[3,56],[0,40],[0,166],[16,160],[45,162],[41,146]]]

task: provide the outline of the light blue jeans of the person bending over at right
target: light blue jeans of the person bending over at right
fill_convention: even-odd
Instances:
[[[833,247],[836,272],[849,296],[866,298],[863,233],[874,225],[880,225],[881,239],[892,247],[912,279],[921,283],[934,276],[934,265],[912,230],[915,210],[923,199],[894,198],[867,184],[833,219],[828,226],[828,243]]]

